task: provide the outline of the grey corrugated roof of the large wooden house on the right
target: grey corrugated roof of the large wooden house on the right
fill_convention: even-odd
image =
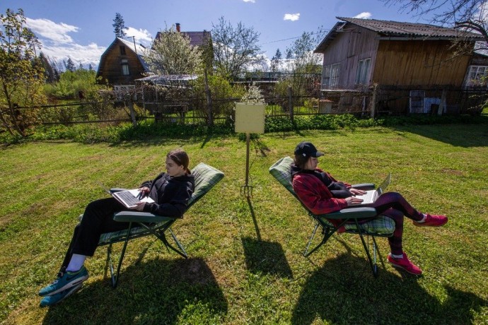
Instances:
[[[324,40],[315,49],[315,53],[323,52],[339,32],[344,32],[345,26],[349,23],[357,25],[367,30],[378,33],[378,37],[383,40],[455,40],[456,38],[467,38],[467,40],[483,40],[481,34],[475,32],[465,32],[455,28],[446,28],[436,25],[422,23],[402,23],[392,20],[376,20],[362,18],[336,17],[338,22],[325,36]]]

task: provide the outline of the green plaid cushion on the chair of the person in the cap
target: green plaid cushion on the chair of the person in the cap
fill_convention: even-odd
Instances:
[[[269,167],[269,173],[277,179],[279,184],[283,185],[293,196],[298,199],[296,193],[293,189],[293,185],[291,184],[291,169],[290,165],[293,162],[291,157],[284,157],[274,163],[271,167]],[[300,199],[298,199],[299,201]],[[330,227],[334,227],[332,223],[330,223],[326,218],[320,217],[320,220],[323,220],[324,223],[330,225]],[[385,215],[379,215],[377,218],[372,219],[366,223],[359,224],[361,231],[366,232],[373,232],[378,235],[390,235],[393,234],[395,231],[395,222],[386,217]],[[347,223],[345,225],[346,230],[357,230],[355,224]]]

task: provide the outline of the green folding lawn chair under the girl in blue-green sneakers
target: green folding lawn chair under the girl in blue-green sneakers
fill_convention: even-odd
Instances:
[[[223,178],[223,172],[216,170],[214,167],[200,162],[197,166],[192,169],[192,175],[194,175],[195,187],[188,202],[188,208],[194,205],[199,199],[207,194],[208,191],[215,184],[221,181]],[[112,189],[112,191],[121,191],[122,189]],[[83,215],[80,215],[80,220]],[[124,259],[125,249],[127,248],[127,243],[129,240],[134,240],[139,237],[145,237],[148,235],[154,235],[158,237],[161,242],[168,249],[172,249],[181,256],[188,257],[185,248],[178,241],[173,231],[171,231],[171,225],[175,223],[178,218],[165,217],[163,215],[154,215],[149,212],[137,212],[137,211],[122,211],[114,214],[114,220],[123,223],[129,223],[129,228],[127,230],[120,230],[116,232],[107,232],[100,236],[98,241],[98,246],[108,245],[107,249],[107,261],[110,266],[110,277],[112,278],[112,287],[116,288],[119,280],[120,266],[122,266],[122,260]],[[178,248],[171,245],[166,239],[165,232],[169,231],[171,237],[175,241]],[[124,242],[124,247],[122,247],[122,252],[120,254],[119,263],[117,266],[117,271],[114,272],[112,264],[112,244],[117,242]]]

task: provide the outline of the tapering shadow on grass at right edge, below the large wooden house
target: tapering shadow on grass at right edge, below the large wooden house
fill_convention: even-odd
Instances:
[[[393,129],[401,132],[418,134],[425,138],[451,144],[456,147],[486,147],[488,146],[488,117],[484,124],[437,124],[395,126]]]

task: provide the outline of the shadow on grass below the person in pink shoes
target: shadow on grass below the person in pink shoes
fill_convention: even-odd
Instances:
[[[487,304],[477,295],[446,286],[439,302],[414,276],[399,278],[380,269],[378,278],[364,269],[360,257],[342,254],[325,261],[303,286],[292,324],[472,324],[472,311]]]

